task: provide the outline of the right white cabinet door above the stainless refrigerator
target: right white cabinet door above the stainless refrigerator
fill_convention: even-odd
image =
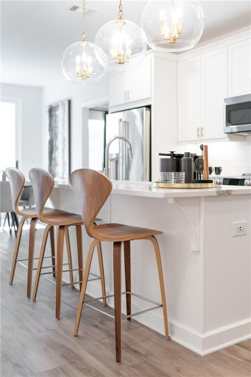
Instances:
[[[151,59],[148,58],[139,67],[130,72],[128,101],[140,101],[151,98]]]

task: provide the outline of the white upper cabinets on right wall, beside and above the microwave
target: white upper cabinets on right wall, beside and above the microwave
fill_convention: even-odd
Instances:
[[[251,92],[251,39],[180,55],[178,141],[226,139],[224,99]],[[185,58],[187,56],[187,58]]]

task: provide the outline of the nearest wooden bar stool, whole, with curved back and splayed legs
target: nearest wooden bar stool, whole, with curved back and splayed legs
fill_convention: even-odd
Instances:
[[[113,242],[113,280],[114,280],[114,296],[115,302],[115,342],[116,342],[116,362],[121,363],[121,326],[122,319],[130,320],[132,316],[137,314],[142,314],[144,312],[157,309],[159,307],[163,308],[163,317],[165,325],[165,338],[169,339],[168,333],[168,320],[167,320],[167,305],[165,296],[164,279],[161,265],[161,257],[159,246],[156,238],[154,236],[158,234],[163,234],[157,230],[138,228],[129,225],[122,224],[101,224],[95,226],[94,219],[96,215],[100,212],[100,209],[106,202],[110,192],[112,190],[111,181],[103,174],[90,170],[90,169],[79,169],[75,170],[70,176],[70,182],[72,188],[75,192],[76,198],[80,204],[81,215],[83,218],[85,229],[88,235],[94,238],[92,242],[86,261],[84,280],[81,288],[81,293],[79,297],[75,330],[74,335],[77,335],[78,326],[80,322],[81,312],[83,304],[96,309],[91,306],[89,302],[101,299],[102,297],[93,298],[91,300],[84,301],[86,285],[88,281],[88,274],[91,266],[93,250],[95,245],[100,241]],[[131,282],[130,282],[130,241],[132,240],[149,240],[152,242],[155,257],[158,268],[159,284],[162,303],[154,302],[148,298],[141,297],[131,292]],[[124,243],[124,258],[125,258],[125,276],[126,276],[126,292],[121,292],[121,246]],[[121,312],[121,295],[126,294],[126,316],[122,318]],[[155,304],[151,309],[146,309],[144,311],[131,314],[131,296],[141,297]],[[107,314],[105,312],[102,312]]]

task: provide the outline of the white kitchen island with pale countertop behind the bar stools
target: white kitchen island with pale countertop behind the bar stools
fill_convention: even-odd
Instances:
[[[79,213],[68,184],[56,183],[51,200],[57,208]],[[99,217],[101,223],[163,231],[158,242],[172,340],[205,355],[251,338],[250,187],[173,189],[152,188],[144,182],[113,182]],[[232,223],[245,220],[247,235],[232,237]],[[76,267],[74,229],[70,229],[70,237]],[[84,229],[83,238],[85,258],[91,240]],[[102,250],[109,295],[113,293],[112,244],[102,242]],[[133,241],[131,251],[132,292],[159,301],[150,242]],[[99,273],[96,255],[91,270]],[[100,282],[90,282],[87,293],[101,296]],[[113,300],[108,304],[113,306]],[[145,308],[141,299],[132,300],[132,312]],[[125,309],[123,301],[124,313]],[[135,319],[164,334],[161,310]]]

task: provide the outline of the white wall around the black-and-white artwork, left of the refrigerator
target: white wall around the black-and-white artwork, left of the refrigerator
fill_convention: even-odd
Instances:
[[[82,108],[81,103],[99,98],[108,97],[108,75],[97,84],[85,86],[76,85],[68,82],[62,76],[62,81],[46,86],[43,91],[43,127],[45,127],[45,107],[54,102],[65,99],[71,100],[71,170],[85,166],[83,156],[84,149],[88,143],[84,140],[86,135],[87,123],[82,125]],[[83,127],[85,129],[83,129]],[[45,129],[43,132],[43,164],[45,166],[46,158]]]

